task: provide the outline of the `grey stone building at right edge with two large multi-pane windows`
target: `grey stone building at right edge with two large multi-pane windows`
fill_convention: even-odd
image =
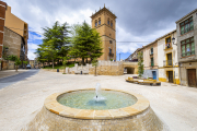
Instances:
[[[176,21],[181,84],[197,87],[197,9]]]

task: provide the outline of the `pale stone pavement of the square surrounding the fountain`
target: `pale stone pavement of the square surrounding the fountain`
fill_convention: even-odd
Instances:
[[[102,87],[132,91],[150,100],[151,108],[172,131],[197,130],[197,88],[162,83],[147,86],[125,82],[130,75],[74,75],[39,71],[0,90],[0,131],[18,131],[42,109],[45,98],[57,92]]]

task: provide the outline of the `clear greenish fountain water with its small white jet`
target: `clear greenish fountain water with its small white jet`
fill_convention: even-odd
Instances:
[[[97,83],[95,91],[78,91],[66,93],[58,97],[58,102],[65,106],[79,109],[117,109],[134,105],[135,96],[116,91],[102,91]]]

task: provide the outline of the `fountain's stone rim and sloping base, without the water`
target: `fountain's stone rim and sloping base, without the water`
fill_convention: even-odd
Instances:
[[[102,90],[129,94],[137,103],[117,109],[78,109],[58,103],[59,96],[76,91],[55,93],[45,99],[42,110],[22,131],[169,131],[143,96],[126,91]]]

